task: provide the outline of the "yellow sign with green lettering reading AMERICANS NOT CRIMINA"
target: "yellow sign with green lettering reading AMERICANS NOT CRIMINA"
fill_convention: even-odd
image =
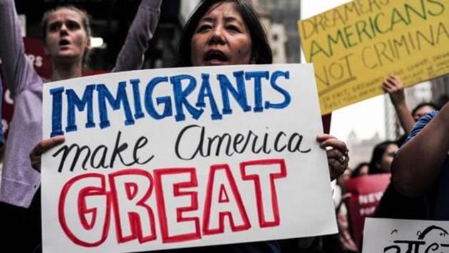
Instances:
[[[321,113],[382,94],[388,75],[407,87],[447,74],[448,16],[448,0],[356,0],[299,21]]]

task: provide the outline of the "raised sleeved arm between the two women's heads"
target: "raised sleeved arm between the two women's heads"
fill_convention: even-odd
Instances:
[[[158,26],[162,0],[142,0],[113,72],[140,70],[149,41]]]

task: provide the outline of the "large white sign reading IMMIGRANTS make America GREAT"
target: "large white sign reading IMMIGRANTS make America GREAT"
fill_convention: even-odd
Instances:
[[[52,82],[44,252],[137,252],[337,232],[312,65]]]

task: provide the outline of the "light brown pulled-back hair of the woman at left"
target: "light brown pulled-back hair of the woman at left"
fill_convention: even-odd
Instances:
[[[73,5],[64,5],[64,6],[57,6],[54,9],[48,10],[43,14],[42,17],[42,21],[41,21],[41,27],[42,27],[42,35],[43,35],[43,42],[46,43],[47,40],[47,26],[48,26],[48,18],[50,18],[51,14],[53,14],[56,11],[61,11],[61,10],[69,10],[69,11],[75,11],[77,14],[80,15],[81,17],[81,25],[83,26],[84,31],[86,31],[86,37],[87,39],[91,39],[91,18],[88,15],[88,13],[86,11],[84,11],[83,9],[80,9],[76,6]],[[86,63],[88,62],[88,53],[89,50],[88,48],[86,48],[86,50],[84,51],[84,55],[83,55],[83,65],[86,65]]]

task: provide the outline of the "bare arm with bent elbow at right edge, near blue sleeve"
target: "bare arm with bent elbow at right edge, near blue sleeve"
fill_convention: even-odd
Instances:
[[[420,119],[408,141],[394,158],[391,172],[393,183],[403,194],[413,197],[425,194],[435,183],[448,158],[449,151],[449,103],[419,132]]]

